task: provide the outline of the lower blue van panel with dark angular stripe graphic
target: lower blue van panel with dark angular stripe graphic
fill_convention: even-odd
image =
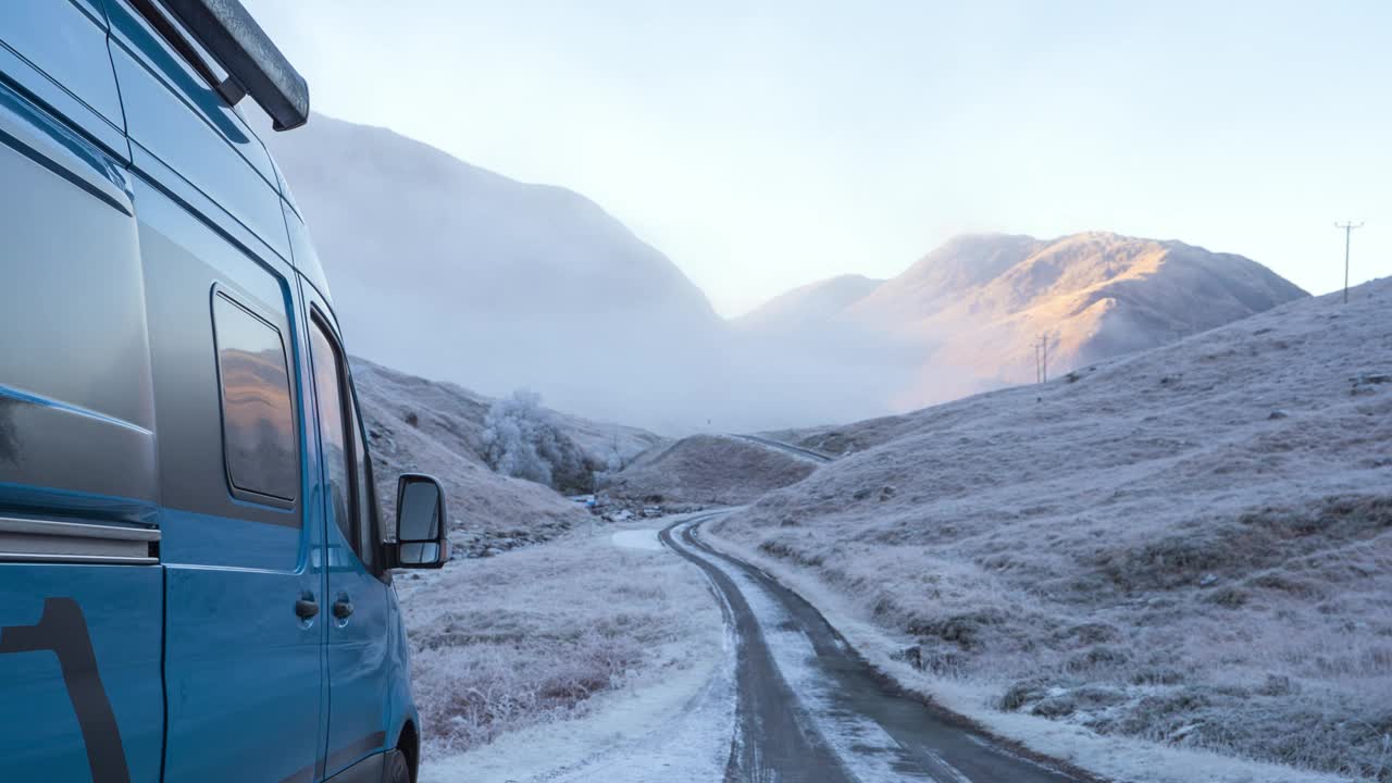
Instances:
[[[0,575],[0,780],[159,780],[160,568]]]

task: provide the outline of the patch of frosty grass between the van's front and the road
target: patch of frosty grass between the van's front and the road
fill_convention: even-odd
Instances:
[[[718,645],[700,573],[611,534],[578,531],[398,582],[427,754],[582,716],[596,694],[682,672]]]

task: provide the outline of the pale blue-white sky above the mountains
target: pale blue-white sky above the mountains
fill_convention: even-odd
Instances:
[[[599,202],[739,315],[962,231],[1392,274],[1392,3],[244,0],[315,110]]]

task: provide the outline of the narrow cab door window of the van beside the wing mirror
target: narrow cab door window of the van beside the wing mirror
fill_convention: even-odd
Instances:
[[[363,447],[362,424],[348,387],[348,368],[329,327],[313,319],[309,355],[315,365],[319,436],[329,476],[334,522],[358,559],[372,568],[376,514],[372,472]]]

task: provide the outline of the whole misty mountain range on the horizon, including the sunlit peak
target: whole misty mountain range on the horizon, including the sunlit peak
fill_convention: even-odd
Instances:
[[[269,141],[352,351],[490,397],[663,435],[903,412],[1157,346],[1304,293],[1183,242],[960,235],[888,280],[846,274],[722,319],[580,194],[316,116]]]

